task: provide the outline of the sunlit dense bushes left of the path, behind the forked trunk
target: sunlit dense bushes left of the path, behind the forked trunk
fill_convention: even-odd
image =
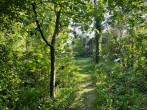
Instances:
[[[39,37],[29,37],[23,32],[22,36],[17,33],[19,31],[22,30],[16,28],[14,34],[10,33],[5,37],[1,32],[0,109],[52,109],[53,105],[61,109],[66,107],[70,104],[68,98],[72,97],[73,91],[76,90],[76,67],[71,49],[67,44],[61,45],[66,42],[68,36],[60,36],[64,41],[58,41],[60,48],[56,51],[56,91],[57,97],[63,101],[60,100],[62,104],[58,101],[53,104],[49,98],[49,49]]]

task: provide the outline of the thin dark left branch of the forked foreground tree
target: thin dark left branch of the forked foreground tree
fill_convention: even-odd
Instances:
[[[33,11],[34,11],[35,18],[36,18],[36,24],[37,24],[37,27],[38,27],[38,29],[39,29],[39,32],[40,32],[40,34],[41,34],[42,39],[44,40],[44,42],[45,42],[49,47],[53,47],[53,46],[46,40],[46,38],[45,38],[45,36],[44,36],[44,34],[43,34],[43,31],[42,31],[41,26],[40,26],[40,24],[39,24],[39,21],[38,21],[38,19],[37,19],[38,17],[37,17],[37,12],[36,12],[35,3],[32,4],[32,7],[33,7]]]

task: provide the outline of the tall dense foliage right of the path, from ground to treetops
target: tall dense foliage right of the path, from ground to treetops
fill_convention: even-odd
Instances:
[[[110,27],[102,34],[105,42],[95,72],[97,110],[146,108],[147,2],[122,1],[112,0],[107,7]]]

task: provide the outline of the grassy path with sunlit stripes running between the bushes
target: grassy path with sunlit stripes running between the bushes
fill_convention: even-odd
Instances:
[[[93,81],[94,63],[90,58],[76,61],[79,75],[79,91],[70,110],[94,110],[96,90]]]

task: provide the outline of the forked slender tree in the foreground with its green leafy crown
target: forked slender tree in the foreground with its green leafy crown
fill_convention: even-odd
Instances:
[[[40,26],[38,16],[37,16],[37,11],[36,11],[36,4],[33,3],[33,11],[36,17],[36,24],[39,29],[39,32],[41,34],[42,39],[44,42],[50,47],[50,61],[51,61],[51,77],[50,77],[50,97],[55,98],[55,75],[56,75],[56,66],[55,66],[55,44],[56,44],[56,39],[58,37],[58,34],[60,30],[63,28],[63,26],[68,26],[70,19],[77,19],[77,16],[79,16],[85,7],[88,6],[88,3],[84,3],[84,1],[43,1],[41,4],[46,4],[50,3],[50,10],[55,13],[55,27],[54,27],[54,32],[51,37],[51,43],[49,43],[46,39],[46,37],[43,34],[42,27]],[[40,4],[40,3],[39,3]],[[76,5],[75,5],[76,4]],[[53,6],[52,6],[53,5]],[[74,11],[73,11],[74,10]],[[87,14],[87,13],[86,13]],[[64,16],[64,18],[63,18]],[[71,17],[73,16],[73,17]],[[84,17],[85,15],[78,17],[79,19]],[[86,16],[85,16],[86,17]],[[85,19],[85,18],[84,18]],[[83,20],[84,20],[83,19]],[[87,21],[87,20],[86,20]],[[78,21],[79,22],[79,21]],[[81,21],[80,21],[81,22]],[[83,23],[83,21],[82,21]]]

